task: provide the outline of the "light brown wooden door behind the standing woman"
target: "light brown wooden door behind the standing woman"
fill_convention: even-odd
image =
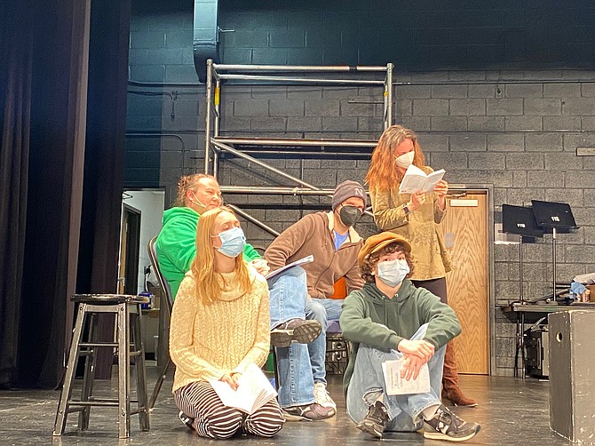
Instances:
[[[452,259],[448,305],[463,327],[454,339],[459,373],[489,374],[488,195],[448,197],[440,223]]]

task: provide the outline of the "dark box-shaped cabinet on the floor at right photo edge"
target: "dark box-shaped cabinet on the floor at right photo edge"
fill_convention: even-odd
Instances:
[[[549,315],[550,427],[571,442],[595,443],[595,311]]]

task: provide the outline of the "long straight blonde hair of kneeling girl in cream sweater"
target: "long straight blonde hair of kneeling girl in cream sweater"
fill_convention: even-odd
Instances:
[[[210,234],[215,219],[223,212],[229,212],[235,216],[230,208],[221,206],[204,212],[196,227],[196,257],[190,269],[196,283],[196,295],[205,304],[214,302],[226,285],[223,276],[215,269],[215,248]],[[242,295],[249,292],[252,283],[242,254],[235,258],[234,273],[238,275],[238,283],[240,283],[238,293]]]

